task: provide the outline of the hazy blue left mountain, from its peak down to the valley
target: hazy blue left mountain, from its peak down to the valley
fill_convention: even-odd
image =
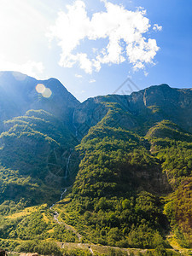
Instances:
[[[39,93],[38,84],[51,95]],[[77,172],[72,117],[78,105],[57,79],[0,73],[1,203],[23,198],[28,205],[51,203],[72,183]]]

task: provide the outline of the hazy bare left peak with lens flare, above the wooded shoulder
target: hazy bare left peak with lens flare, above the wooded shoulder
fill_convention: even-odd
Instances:
[[[38,93],[36,86],[44,84],[51,96]],[[0,73],[0,120],[20,116],[30,109],[44,109],[61,121],[71,123],[73,109],[79,101],[57,80],[37,80],[22,73]]]

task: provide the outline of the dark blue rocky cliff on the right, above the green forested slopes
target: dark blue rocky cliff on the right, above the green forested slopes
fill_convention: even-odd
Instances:
[[[170,119],[184,130],[192,131],[192,90],[174,89],[167,84],[151,86],[130,96],[110,95],[90,98],[75,108],[76,126],[96,125],[110,109],[116,109],[119,126],[143,134],[151,125]]]

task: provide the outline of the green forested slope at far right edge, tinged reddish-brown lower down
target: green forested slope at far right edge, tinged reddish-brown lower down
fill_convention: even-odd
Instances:
[[[180,246],[191,247],[192,135],[164,120],[152,127],[146,137],[173,190],[166,197],[164,212]]]

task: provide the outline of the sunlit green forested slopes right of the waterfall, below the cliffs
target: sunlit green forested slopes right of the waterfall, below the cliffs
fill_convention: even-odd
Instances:
[[[61,217],[95,243],[169,247],[165,234],[172,229],[191,246],[190,216],[182,218],[191,206],[191,139],[166,120],[146,138],[101,121],[77,147],[82,160]]]

